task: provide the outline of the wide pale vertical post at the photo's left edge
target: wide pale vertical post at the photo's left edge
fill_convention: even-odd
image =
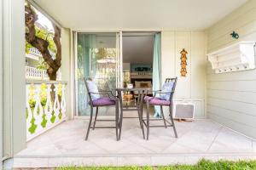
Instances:
[[[26,147],[25,20],[20,17],[25,9],[23,0],[2,2],[3,156],[6,159]]]

